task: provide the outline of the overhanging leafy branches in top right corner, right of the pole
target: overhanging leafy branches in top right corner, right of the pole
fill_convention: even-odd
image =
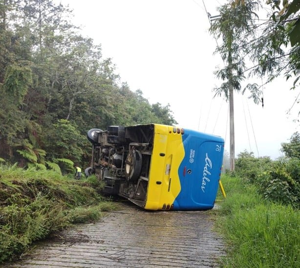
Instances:
[[[283,72],[286,79],[295,76],[295,88],[300,70],[300,0],[268,0],[267,3],[273,12],[267,13],[269,20],[257,26],[259,35],[249,44],[254,62],[250,70],[253,75],[267,75],[267,82]]]

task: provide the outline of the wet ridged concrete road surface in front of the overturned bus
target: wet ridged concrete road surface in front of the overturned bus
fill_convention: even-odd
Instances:
[[[40,243],[30,256],[0,267],[218,267],[225,254],[209,211],[146,211],[122,202],[93,224]]]

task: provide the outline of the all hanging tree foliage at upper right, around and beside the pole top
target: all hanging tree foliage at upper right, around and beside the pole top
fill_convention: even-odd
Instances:
[[[216,95],[227,98],[231,84],[260,103],[262,86],[282,75],[287,80],[294,78],[292,89],[299,90],[300,0],[229,0],[218,12],[219,19],[212,21],[210,31],[221,39],[216,52],[228,64],[216,71],[225,81],[215,88]],[[243,79],[252,77],[264,82],[242,88]]]

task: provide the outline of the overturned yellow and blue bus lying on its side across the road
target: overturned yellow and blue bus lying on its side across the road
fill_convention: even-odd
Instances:
[[[149,210],[214,207],[224,140],[162,124],[109,126],[87,132],[91,166],[105,183],[103,193],[124,197]]]

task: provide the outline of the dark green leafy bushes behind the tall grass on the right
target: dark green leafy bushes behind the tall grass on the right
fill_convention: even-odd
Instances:
[[[300,207],[300,159],[255,158],[246,151],[236,159],[235,174],[257,186],[258,192],[267,200],[284,205]]]

